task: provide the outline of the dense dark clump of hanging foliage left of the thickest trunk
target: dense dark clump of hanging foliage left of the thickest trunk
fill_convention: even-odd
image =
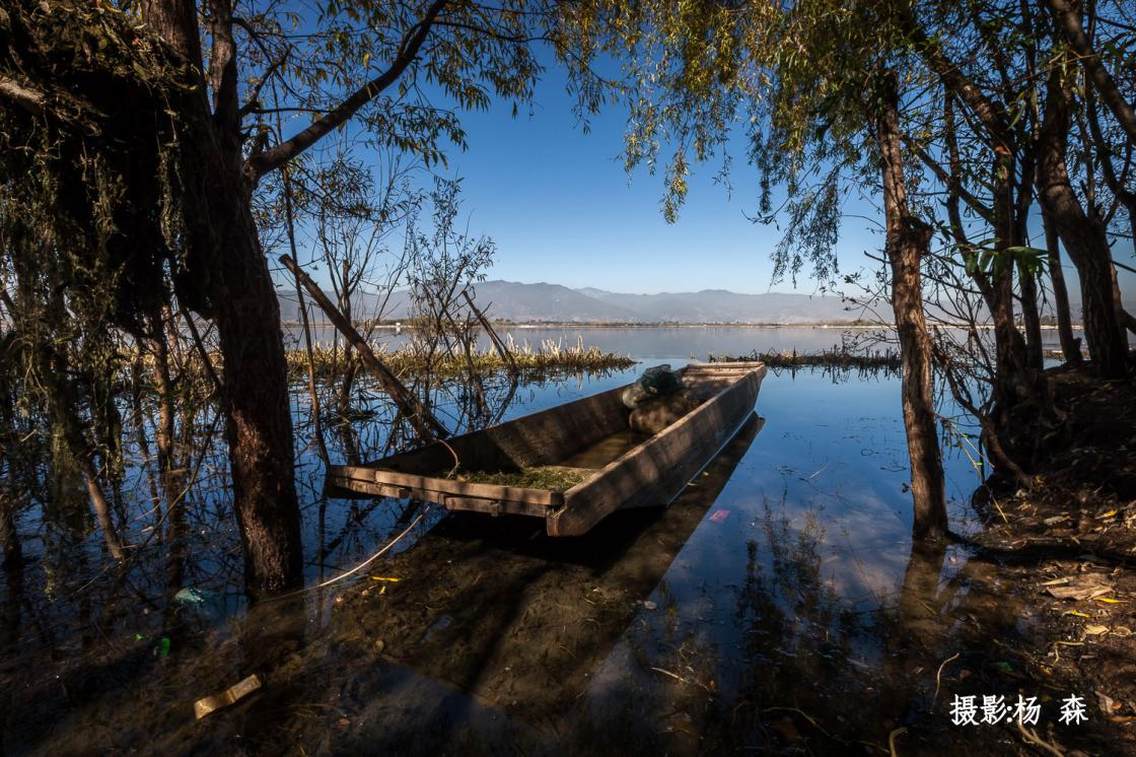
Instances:
[[[183,115],[201,97],[200,74],[126,14],[0,9],[0,249],[23,292],[42,281],[85,327],[131,332],[169,282],[206,309],[192,257],[209,224],[181,169],[208,138]]]

